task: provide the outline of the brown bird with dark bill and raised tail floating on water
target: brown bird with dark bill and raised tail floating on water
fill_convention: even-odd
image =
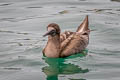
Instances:
[[[65,31],[61,33],[58,24],[50,23],[43,37],[48,36],[48,41],[43,49],[43,55],[49,58],[63,58],[86,49],[89,44],[89,21],[86,15],[83,22],[75,32]]]

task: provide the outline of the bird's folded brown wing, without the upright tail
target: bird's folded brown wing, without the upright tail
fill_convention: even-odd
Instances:
[[[89,43],[89,36],[80,33],[70,35],[61,43],[61,57],[69,56],[84,50]]]

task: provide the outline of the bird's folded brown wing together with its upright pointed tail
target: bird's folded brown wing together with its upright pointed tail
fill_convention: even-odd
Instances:
[[[61,43],[61,57],[69,56],[84,50],[89,43],[88,16],[84,19],[77,31],[72,33]]]

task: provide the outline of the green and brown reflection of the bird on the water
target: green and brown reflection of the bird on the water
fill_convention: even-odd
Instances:
[[[76,74],[76,73],[86,73],[89,72],[88,69],[82,69],[78,65],[71,63],[66,64],[66,58],[43,58],[48,66],[42,68],[43,72],[46,74],[46,80],[58,80],[59,74]]]

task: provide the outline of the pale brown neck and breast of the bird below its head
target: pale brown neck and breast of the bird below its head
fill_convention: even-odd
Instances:
[[[59,57],[60,55],[60,35],[48,36],[48,42],[45,49],[47,57]]]

